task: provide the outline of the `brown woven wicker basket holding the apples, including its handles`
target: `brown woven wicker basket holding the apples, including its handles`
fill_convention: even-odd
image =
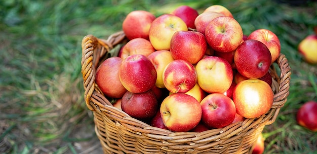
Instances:
[[[252,153],[254,143],[265,125],[272,124],[289,95],[291,68],[281,54],[276,60],[279,71],[271,65],[274,100],[264,115],[230,124],[221,129],[197,132],[171,132],[152,127],[130,117],[111,105],[95,82],[96,68],[120,46],[127,43],[123,31],[108,39],[87,35],[82,40],[82,74],[85,101],[93,112],[95,132],[104,153]],[[278,76],[280,72],[280,76]]]

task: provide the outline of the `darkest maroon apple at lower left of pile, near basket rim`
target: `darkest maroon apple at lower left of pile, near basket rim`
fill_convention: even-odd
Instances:
[[[152,90],[141,93],[127,91],[122,97],[121,109],[135,119],[149,120],[155,116],[159,105]]]

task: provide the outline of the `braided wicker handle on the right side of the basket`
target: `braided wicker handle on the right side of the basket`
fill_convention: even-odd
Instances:
[[[279,115],[280,109],[284,106],[287,101],[287,96],[289,95],[290,89],[290,79],[291,79],[291,67],[286,59],[285,55],[280,54],[279,58],[276,60],[278,63],[281,75],[279,81],[279,89],[276,94],[274,94],[272,109],[275,109],[272,118],[267,121],[266,125],[270,125],[275,122]]]

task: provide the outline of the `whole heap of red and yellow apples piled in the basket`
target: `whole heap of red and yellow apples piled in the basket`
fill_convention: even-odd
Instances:
[[[246,35],[223,6],[199,14],[180,6],[155,17],[133,11],[123,21],[128,42],[96,71],[113,106],[174,132],[223,128],[267,113],[270,65],[280,55],[270,30]]]

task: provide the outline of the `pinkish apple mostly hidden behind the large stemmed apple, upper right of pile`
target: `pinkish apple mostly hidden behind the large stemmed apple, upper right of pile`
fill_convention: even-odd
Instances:
[[[197,32],[201,32],[205,35],[205,29],[207,25],[215,18],[224,16],[222,13],[210,11],[210,12],[204,12],[196,17],[194,23]]]

